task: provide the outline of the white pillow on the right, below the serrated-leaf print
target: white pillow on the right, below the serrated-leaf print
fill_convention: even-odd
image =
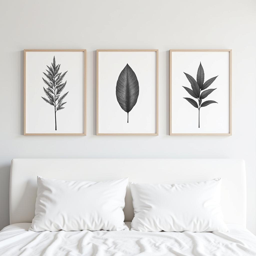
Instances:
[[[190,184],[130,183],[136,231],[228,232],[220,207],[221,179]]]

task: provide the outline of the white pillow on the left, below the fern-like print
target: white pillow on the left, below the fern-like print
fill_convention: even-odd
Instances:
[[[37,177],[32,231],[128,230],[124,197],[128,178],[105,182]]]

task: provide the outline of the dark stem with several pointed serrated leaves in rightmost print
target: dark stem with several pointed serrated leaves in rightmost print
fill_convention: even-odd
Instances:
[[[187,74],[185,72],[183,72],[183,73],[185,74],[185,76],[187,77],[188,81],[190,82],[192,90],[190,88],[188,88],[188,87],[185,87],[185,86],[183,86],[183,88],[192,97],[194,97],[195,99],[198,100],[198,104],[193,99],[190,99],[190,98],[184,98],[184,99],[186,99],[191,105],[193,105],[195,108],[198,109],[198,128],[200,128],[200,108],[208,106],[211,103],[218,103],[218,102],[216,102],[214,100],[207,100],[207,101],[204,101],[202,103],[202,99],[205,99],[210,93],[212,93],[214,90],[217,89],[217,88],[215,88],[215,89],[205,90],[206,88],[208,88],[214,82],[214,80],[217,78],[217,76],[216,77],[212,77],[209,80],[207,80],[206,82],[204,82],[204,80],[205,80],[205,73],[204,73],[204,69],[203,69],[203,67],[201,65],[201,62],[200,62],[200,65],[198,67],[198,70],[197,70],[196,80],[192,76],[190,76],[189,74]],[[203,90],[205,90],[205,91],[203,91]]]

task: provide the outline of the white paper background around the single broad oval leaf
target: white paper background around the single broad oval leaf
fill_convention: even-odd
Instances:
[[[139,82],[137,103],[127,113],[116,99],[116,82],[126,64]],[[99,52],[99,133],[156,132],[156,52]]]

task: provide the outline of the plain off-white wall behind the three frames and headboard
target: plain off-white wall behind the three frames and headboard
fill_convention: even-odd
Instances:
[[[255,12],[253,0],[1,1],[0,228],[9,223],[12,158],[244,158],[256,234]],[[23,136],[23,49],[81,48],[88,135]],[[159,49],[159,136],[95,136],[96,49]],[[233,49],[232,136],[168,135],[169,49]]]

